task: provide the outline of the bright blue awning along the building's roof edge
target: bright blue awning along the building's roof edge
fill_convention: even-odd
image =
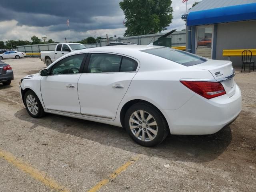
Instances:
[[[256,3],[190,12],[187,26],[256,20]]]

